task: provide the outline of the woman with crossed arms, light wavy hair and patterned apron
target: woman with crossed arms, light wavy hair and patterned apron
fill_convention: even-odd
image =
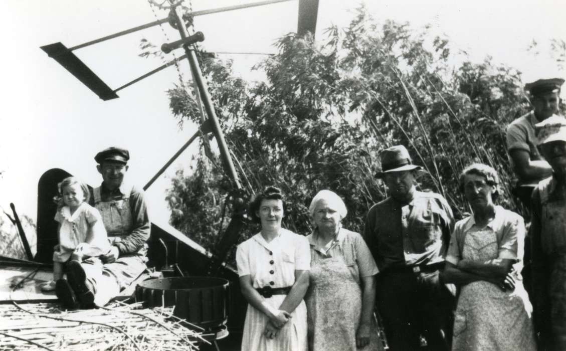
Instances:
[[[443,272],[444,282],[461,289],[452,350],[535,350],[532,307],[520,276],[523,219],[495,205],[499,177],[490,166],[464,169],[460,189],[473,215],[456,223]]]

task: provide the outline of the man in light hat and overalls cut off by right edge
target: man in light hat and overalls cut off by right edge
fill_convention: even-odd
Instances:
[[[535,128],[552,177],[532,195],[534,326],[539,350],[566,350],[566,120],[552,116]]]

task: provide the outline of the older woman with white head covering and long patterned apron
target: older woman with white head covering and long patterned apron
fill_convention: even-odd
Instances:
[[[360,234],[341,227],[346,206],[340,196],[321,190],[309,212],[314,231],[310,285],[305,297],[308,344],[312,351],[381,349],[375,324],[378,268]]]

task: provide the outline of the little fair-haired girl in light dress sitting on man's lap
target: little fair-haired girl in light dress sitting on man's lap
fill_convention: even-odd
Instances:
[[[100,212],[88,204],[87,185],[75,177],[59,183],[59,206],[55,220],[59,222],[59,245],[53,252],[53,280],[41,287],[55,290],[55,282],[63,278],[63,265],[68,260],[95,259],[110,251],[106,229]]]

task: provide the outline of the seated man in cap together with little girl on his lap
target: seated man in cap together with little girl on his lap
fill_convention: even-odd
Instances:
[[[104,306],[145,271],[151,224],[143,191],[124,182],[129,159],[123,148],[98,152],[102,183],[92,193],[75,177],[59,183],[53,280],[41,289],[68,309]]]

